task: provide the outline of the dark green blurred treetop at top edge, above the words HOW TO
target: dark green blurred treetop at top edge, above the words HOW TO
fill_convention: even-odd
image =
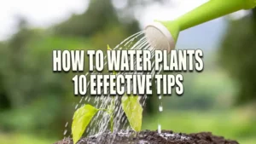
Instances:
[[[55,32],[61,35],[90,37],[95,32],[102,32],[107,25],[119,23],[110,0],[90,1],[90,7],[84,14],[73,16],[55,26]]]

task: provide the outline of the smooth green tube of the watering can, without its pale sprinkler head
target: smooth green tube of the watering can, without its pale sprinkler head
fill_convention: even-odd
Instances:
[[[183,31],[225,14],[241,9],[253,9],[255,6],[256,0],[210,0],[175,21],[179,26],[179,31]]]

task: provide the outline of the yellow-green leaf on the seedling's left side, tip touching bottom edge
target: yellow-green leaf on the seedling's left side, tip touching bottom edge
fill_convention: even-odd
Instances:
[[[84,133],[90,120],[94,117],[99,110],[90,105],[80,107],[73,115],[72,134],[73,143],[76,144]]]

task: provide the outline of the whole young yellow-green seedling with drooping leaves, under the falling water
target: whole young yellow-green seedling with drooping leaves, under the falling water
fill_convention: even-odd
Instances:
[[[111,50],[108,46],[108,50]],[[113,72],[113,74],[117,74]],[[123,95],[121,100],[121,107],[125,112],[125,115],[131,125],[131,129],[135,131],[140,131],[142,127],[143,120],[143,107],[141,106],[139,96],[128,96]],[[84,105],[80,107],[73,115],[72,123],[72,134],[73,134],[73,143],[76,144],[81,136],[84,134],[84,130],[90,124],[91,119],[99,111],[107,112],[109,115],[110,130],[113,132],[113,112],[115,107],[115,101],[112,98],[111,104],[108,106],[108,109],[96,108],[90,105]]]

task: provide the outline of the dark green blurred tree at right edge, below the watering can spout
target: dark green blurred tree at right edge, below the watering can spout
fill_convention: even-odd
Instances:
[[[236,79],[237,104],[256,101],[256,9],[241,20],[230,21],[220,49],[220,63]]]

